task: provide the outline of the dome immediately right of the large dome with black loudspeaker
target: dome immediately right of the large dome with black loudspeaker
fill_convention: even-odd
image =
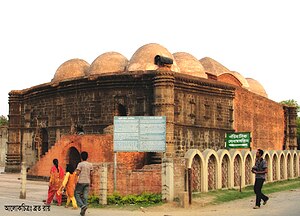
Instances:
[[[191,54],[186,52],[177,52],[173,53],[173,57],[181,73],[207,78],[204,67],[198,59]]]

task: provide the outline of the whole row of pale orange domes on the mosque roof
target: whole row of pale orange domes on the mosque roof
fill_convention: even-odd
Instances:
[[[56,70],[51,82],[57,83],[64,80],[104,73],[157,70],[159,66],[154,64],[154,57],[156,55],[173,59],[171,70],[174,72],[201,78],[208,78],[208,74],[211,74],[216,76],[218,80],[224,82],[228,80],[228,77],[233,77],[237,80],[239,86],[267,97],[265,89],[258,81],[251,78],[244,78],[240,73],[230,71],[212,58],[205,57],[198,60],[186,52],[171,54],[165,47],[156,43],[150,43],[140,47],[129,61],[118,52],[103,53],[98,56],[91,65],[82,59],[68,60]]]

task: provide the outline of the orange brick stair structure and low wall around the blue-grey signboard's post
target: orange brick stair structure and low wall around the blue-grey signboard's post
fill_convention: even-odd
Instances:
[[[100,166],[108,165],[108,193],[114,192],[114,152],[112,135],[68,135],[62,137],[45,156],[28,171],[30,176],[49,177],[52,160],[57,158],[65,168],[69,163],[69,150],[87,151],[88,161],[93,163],[94,174],[91,193],[100,192]],[[142,192],[161,193],[161,165],[144,165],[146,153],[117,153],[117,192],[140,194]]]

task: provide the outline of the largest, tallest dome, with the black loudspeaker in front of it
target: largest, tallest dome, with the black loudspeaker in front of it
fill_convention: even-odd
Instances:
[[[156,55],[162,55],[173,59],[171,70],[179,72],[179,68],[174,61],[172,54],[163,46],[150,43],[140,47],[131,57],[128,64],[128,71],[145,71],[145,70],[157,70],[158,66],[154,64],[154,57]]]

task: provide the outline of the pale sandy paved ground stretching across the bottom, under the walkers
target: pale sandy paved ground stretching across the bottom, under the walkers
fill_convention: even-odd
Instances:
[[[1,172],[1,168],[0,168]],[[42,200],[47,196],[47,182],[27,181],[26,199],[19,199],[21,181],[19,174],[0,174],[0,215],[79,215],[79,210],[66,209],[62,206],[51,205],[50,211],[43,211]],[[300,181],[299,181],[300,184]],[[242,200],[228,202],[221,205],[201,207],[197,202],[188,209],[183,209],[166,204],[159,207],[129,211],[119,209],[94,209],[87,210],[87,216],[299,216],[300,215],[300,189],[274,193],[269,195],[270,201],[261,209],[252,209],[254,196]],[[24,203],[24,204],[23,204]],[[40,211],[8,211],[9,205],[27,205],[32,208],[41,207]],[[7,207],[8,208],[8,207]],[[47,209],[45,209],[47,210]]]

